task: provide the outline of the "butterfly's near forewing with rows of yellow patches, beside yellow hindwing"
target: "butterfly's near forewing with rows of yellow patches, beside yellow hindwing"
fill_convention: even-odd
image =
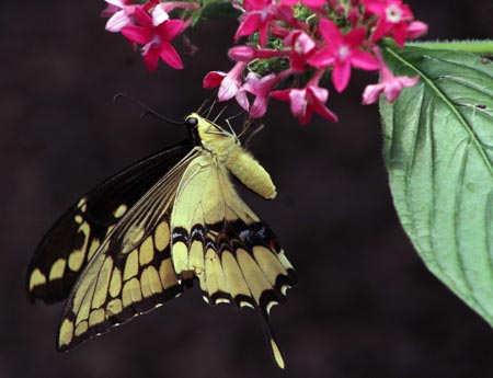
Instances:
[[[195,151],[161,177],[104,239],[70,293],[59,350],[107,332],[182,293],[171,261],[170,215]]]

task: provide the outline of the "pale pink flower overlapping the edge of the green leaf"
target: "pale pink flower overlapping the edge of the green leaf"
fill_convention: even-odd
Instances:
[[[388,102],[394,102],[401,94],[403,88],[414,87],[420,78],[408,78],[405,76],[394,76],[392,71],[382,62],[380,68],[380,83],[367,85],[363,92],[363,104],[369,105],[378,101],[381,92],[386,93]]]

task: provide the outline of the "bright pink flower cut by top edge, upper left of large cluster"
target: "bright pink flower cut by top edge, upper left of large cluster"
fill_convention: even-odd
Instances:
[[[244,0],[244,13],[240,16],[240,26],[234,34],[234,42],[242,36],[260,34],[260,45],[267,43],[268,27],[273,20],[291,24],[294,22],[293,9],[276,0]]]

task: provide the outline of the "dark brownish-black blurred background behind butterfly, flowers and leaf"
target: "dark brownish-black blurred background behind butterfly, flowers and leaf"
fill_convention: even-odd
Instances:
[[[429,38],[492,35],[491,0],[410,1]],[[26,265],[68,205],[138,158],[184,135],[139,121],[117,92],[180,119],[228,70],[234,22],[187,35],[185,69],[148,73],[103,1],[10,1],[0,12],[0,377],[492,377],[491,328],[433,277],[399,225],[381,158],[376,106],[360,106],[374,75],[354,75],[330,107],[301,127],[272,102],[251,146],[278,188],[246,199],[276,230],[299,286],[273,311],[288,370],[270,360],[256,316],[208,307],[195,290],[72,352],[57,354],[62,305],[31,306]],[[175,45],[181,48],[182,43]],[[182,49],[181,49],[182,51]],[[183,54],[181,54],[183,56]]]

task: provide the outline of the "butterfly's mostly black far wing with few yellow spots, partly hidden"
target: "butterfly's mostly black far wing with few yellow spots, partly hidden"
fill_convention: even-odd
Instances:
[[[104,238],[149,188],[193,148],[183,142],[145,158],[98,185],[46,233],[27,270],[31,300],[67,298]]]

